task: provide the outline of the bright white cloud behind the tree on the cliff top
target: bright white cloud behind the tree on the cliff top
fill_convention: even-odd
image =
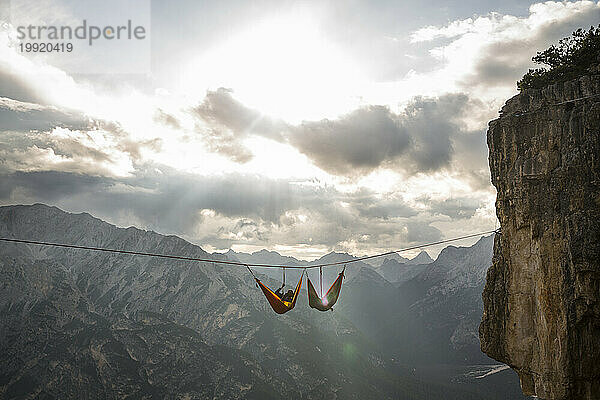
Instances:
[[[457,89],[478,89],[478,96],[514,92],[515,83],[532,67],[531,57],[577,28],[596,25],[600,3],[594,1],[536,3],[529,15],[488,15],[427,26],[411,34],[411,42],[434,43],[430,55],[443,65],[433,72],[416,74],[417,80],[454,82]],[[442,43],[439,43],[442,42]],[[485,90],[493,89],[486,94]],[[510,91],[508,91],[510,90]]]

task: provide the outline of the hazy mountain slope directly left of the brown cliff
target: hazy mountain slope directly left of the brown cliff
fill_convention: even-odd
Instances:
[[[419,362],[485,361],[477,328],[492,253],[493,235],[471,247],[449,246],[414,278],[402,283],[397,295],[403,306],[382,322],[383,328],[377,333],[390,351],[395,349],[398,355]]]

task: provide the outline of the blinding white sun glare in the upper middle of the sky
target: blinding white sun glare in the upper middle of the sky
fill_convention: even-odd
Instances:
[[[278,16],[230,37],[189,66],[194,90],[234,88],[244,104],[297,123],[358,104],[356,63],[308,16]]]

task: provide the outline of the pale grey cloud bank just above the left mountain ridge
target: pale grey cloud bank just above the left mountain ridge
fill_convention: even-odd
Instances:
[[[256,218],[276,224],[286,210],[295,207],[292,192],[301,193],[285,181],[252,175],[202,177],[164,166],[139,169],[131,177],[96,176],[90,178],[93,185],[83,185],[82,176],[89,175],[71,171],[4,172],[3,198],[14,197],[16,191],[30,193],[30,200],[86,204],[103,215],[123,210],[144,221],[144,226],[189,233],[204,218],[200,211],[205,209],[236,220]],[[61,189],[52,190],[55,187]]]

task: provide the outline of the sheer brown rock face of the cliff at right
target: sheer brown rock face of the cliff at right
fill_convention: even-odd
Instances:
[[[502,234],[481,349],[528,395],[600,398],[600,76],[526,91],[488,130]]]

